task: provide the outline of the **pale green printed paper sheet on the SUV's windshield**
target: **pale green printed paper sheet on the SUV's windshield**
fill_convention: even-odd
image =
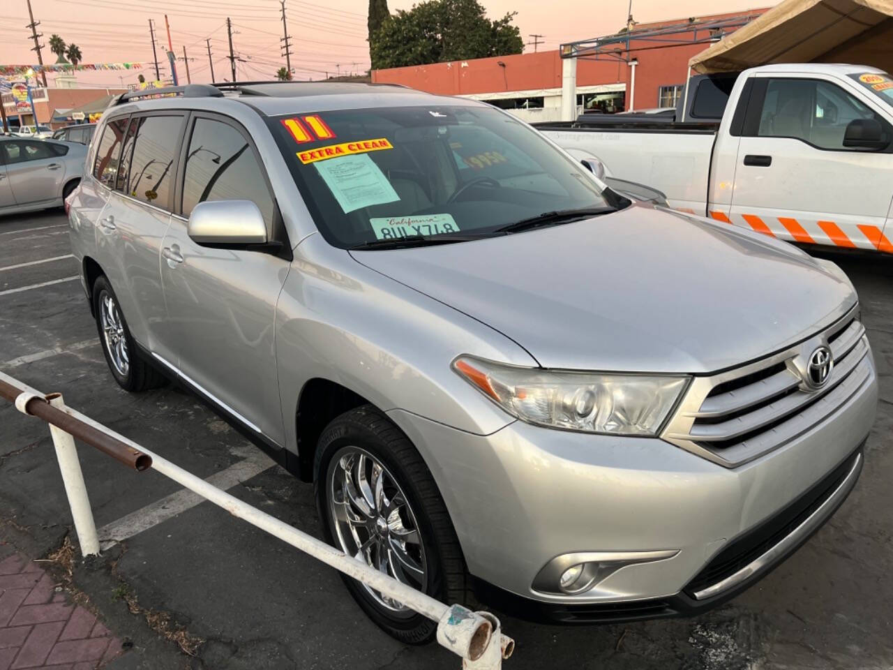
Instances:
[[[367,154],[345,155],[313,163],[344,213],[400,199],[388,178]]]

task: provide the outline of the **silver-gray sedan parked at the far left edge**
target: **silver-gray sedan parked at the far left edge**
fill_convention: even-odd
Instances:
[[[0,214],[61,207],[84,173],[87,147],[0,136]]]

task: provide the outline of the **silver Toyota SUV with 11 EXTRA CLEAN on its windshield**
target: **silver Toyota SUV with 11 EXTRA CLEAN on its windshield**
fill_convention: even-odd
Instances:
[[[358,560],[553,621],[691,613],[855,485],[877,381],[835,264],[622,195],[466,99],[169,93],[104,113],[71,199],[109,367],[314,482]]]

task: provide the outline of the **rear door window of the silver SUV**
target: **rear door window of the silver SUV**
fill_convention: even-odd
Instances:
[[[159,207],[169,206],[182,122],[181,116],[138,119],[137,138],[126,180],[130,197]]]

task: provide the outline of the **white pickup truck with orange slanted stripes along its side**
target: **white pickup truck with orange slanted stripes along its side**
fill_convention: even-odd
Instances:
[[[670,206],[805,244],[893,253],[893,77],[858,65],[740,74],[718,126],[580,119],[538,130]]]

